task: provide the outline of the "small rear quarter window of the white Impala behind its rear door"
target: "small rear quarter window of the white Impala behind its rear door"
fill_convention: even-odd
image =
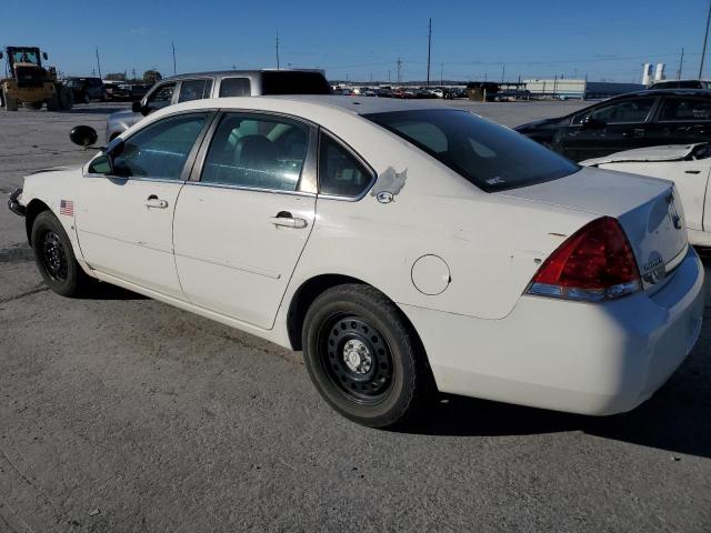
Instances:
[[[368,190],[372,173],[344,147],[321,134],[319,153],[319,192],[357,198]]]

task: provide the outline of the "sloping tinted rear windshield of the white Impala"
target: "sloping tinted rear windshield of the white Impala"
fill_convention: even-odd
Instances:
[[[457,109],[367,114],[487,192],[557,180],[580,167],[539,143]]]

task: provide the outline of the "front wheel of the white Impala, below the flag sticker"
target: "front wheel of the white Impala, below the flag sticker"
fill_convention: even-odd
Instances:
[[[32,224],[32,250],[47,285],[62,296],[78,296],[92,284],[81,269],[64,228],[51,211],[37,215]]]

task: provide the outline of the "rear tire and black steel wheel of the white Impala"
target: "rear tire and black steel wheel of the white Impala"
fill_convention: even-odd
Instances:
[[[433,390],[419,340],[395,304],[372,286],[344,284],[320,294],[307,311],[302,344],[319,393],[360,424],[402,424]]]

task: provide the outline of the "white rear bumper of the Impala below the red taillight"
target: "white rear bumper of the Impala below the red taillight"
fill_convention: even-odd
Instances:
[[[703,269],[691,247],[655,292],[604,304],[522,296],[502,320],[401,305],[442,392],[607,415],[634,409],[695,344]]]

